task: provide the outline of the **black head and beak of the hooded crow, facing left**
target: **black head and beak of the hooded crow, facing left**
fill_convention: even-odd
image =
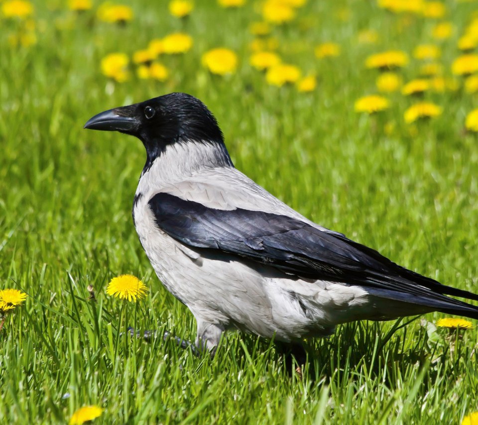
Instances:
[[[185,93],[171,93],[101,112],[90,118],[85,128],[138,137],[146,148],[148,161],[174,143],[194,141],[224,147],[223,134],[214,115],[199,99]]]

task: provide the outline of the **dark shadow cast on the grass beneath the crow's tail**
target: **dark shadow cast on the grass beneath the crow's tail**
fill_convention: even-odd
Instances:
[[[260,338],[254,343],[250,336],[242,342],[242,349],[248,350],[245,355],[252,358],[264,350],[262,355],[267,357],[266,363],[279,365],[289,376],[297,373],[297,367],[302,365],[301,377],[316,383],[346,385],[365,375],[367,379],[380,380],[389,388],[397,388],[410,367],[425,367],[428,382],[434,382],[444,370],[458,378],[463,372],[460,357],[467,356],[469,353],[465,351],[473,347],[468,344],[453,346],[447,337],[433,341],[425,326],[420,322],[413,324],[415,320],[417,318],[397,320],[389,328],[371,321],[344,324],[328,338],[304,341],[303,350]],[[450,356],[451,350],[455,351],[453,356]],[[240,351],[239,348],[239,356]]]

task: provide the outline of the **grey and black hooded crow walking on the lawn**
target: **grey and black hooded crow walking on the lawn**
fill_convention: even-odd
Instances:
[[[478,307],[450,297],[477,294],[314,223],[241,173],[216,118],[191,95],[109,109],[84,128],[144,145],[133,223],[157,277],[196,319],[203,351],[213,355],[233,329],[293,345],[357,320],[478,319]]]

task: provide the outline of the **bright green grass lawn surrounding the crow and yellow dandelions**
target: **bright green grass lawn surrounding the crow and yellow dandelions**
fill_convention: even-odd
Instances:
[[[1,21],[0,288],[29,297],[0,332],[0,422],[61,424],[88,404],[105,408],[96,421],[105,424],[458,424],[478,410],[478,331],[457,338],[436,330],[440,314],[398,329],[347,324],[309,340],[313,368],[302,380],[270,341],[251,335],[228,334],[213,360],[160,337],[120,336],[134,326],[194,339],[196,326],[155,277],[132,225],[143,147],[82,129],[114,106],[191,93],[216,114],[236,166],[271,193],[408,268],[477,292],[478,140],[464,131],[477,99],[462,88],[426,94],[444,113],[412,127],[403,111],[413,100],[400,94],[377,116],[353,109],[375,91],[377,72],[364,68],[365,57],[434,42],[435,21],[411,17],[400,32],[404,18],[374,2],[309,1],[295,21],[274,29],[284,60],[317,75],[318,88],[300,94],[267,86],[249,67],[247,26],[260,19],[252,0],[239,10],[197,1],[184,23],[162,2],[136,1],[134,20],[122,27],[61,4],[35,3],[38,43],[30,47],[11,47],[8,36],[20,24]],[[449,76],[474,3],[446,4],[455,34],[440,43],[440,62]],[[345,22],[337,18],[343,8]],[[358,44],[363,28],[377,30],[379,44]],[[194,47],[163,59],[166,83],[113,84],[101,75],[106,54],[132,54],[179,29]],[[341,56],[316,59],[322,41],[341,44]],[[239,54],[237,73],[226,78],[200,66],[201,54],[221,45]],[[418,67],[411,60],[404,80]],[[395,123],[390,134],[387,122]],[[150,288],[145,300],[123,306],[106,295],[109,280],[123,273]],[[97,302],[88,300],[88,285]]]

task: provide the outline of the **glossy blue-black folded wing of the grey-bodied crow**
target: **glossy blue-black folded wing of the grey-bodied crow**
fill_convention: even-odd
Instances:
[[[299,277],[375,288],[386,298],[478,318],[478,308],[442,294],[478,295],[440,284],[340,234],[273,213],[216,210],[167,193],[151,198],[156,224],[192,246],[236,254]]]

